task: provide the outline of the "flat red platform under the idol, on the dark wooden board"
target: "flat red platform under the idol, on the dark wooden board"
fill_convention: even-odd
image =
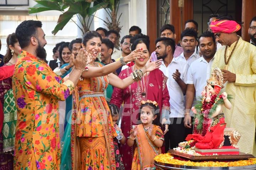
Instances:
[[[233,146],[223,146],[218,149],[194,149],[197,153],[201,155],[239,155],[239,148]]]

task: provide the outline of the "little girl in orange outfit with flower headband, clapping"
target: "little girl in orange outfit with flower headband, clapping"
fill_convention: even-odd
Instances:
[[[141,101],[139,118],[142,124],[133,125],[128,137],[128,146],[135,145],[132,170],[157,169],[154,158],[161,154],[164,134],[160,128],[158,104],[154,101]],[[135,142],[134,142],[135,141]]]

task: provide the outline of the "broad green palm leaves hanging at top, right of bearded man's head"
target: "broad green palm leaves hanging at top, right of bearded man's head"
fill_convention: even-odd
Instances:
[[[89,31],[93,21],[94,13],[101,9],[110,6],[108,1],[101,1],[93,3],[94,0],[35,0],[37,4],[29,8],[28,13],[38,13],[43,11],[60,11],[62,14],[59,16],[57,25],[52,33],[55,35],[59,30],[62,30],[65,25],[71,20],[84,34]],[[81,23],[79,26],[72,18],[78,16]]]

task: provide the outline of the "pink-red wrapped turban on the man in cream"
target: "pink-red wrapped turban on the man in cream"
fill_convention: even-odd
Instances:
[[[213,33],[234,33],[240,30],[241,26],[235,21],[215,19],[211,22],[210,28]]]

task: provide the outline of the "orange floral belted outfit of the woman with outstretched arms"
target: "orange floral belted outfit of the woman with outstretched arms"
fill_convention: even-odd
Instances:
[[[102,67],[100,63],[95,65]],[[86,170],[116,169],[113,137],[117,134],[104,96],[107,86],[107,76],[78,81],[79,94],[74,93],[76,101],[73,103],[73,109],[77,109],[77,112],[72,114],[75,125],[71,125],[73,169],[79,169],[78,164]],[[80,146],[80,158],[77,146]]]

